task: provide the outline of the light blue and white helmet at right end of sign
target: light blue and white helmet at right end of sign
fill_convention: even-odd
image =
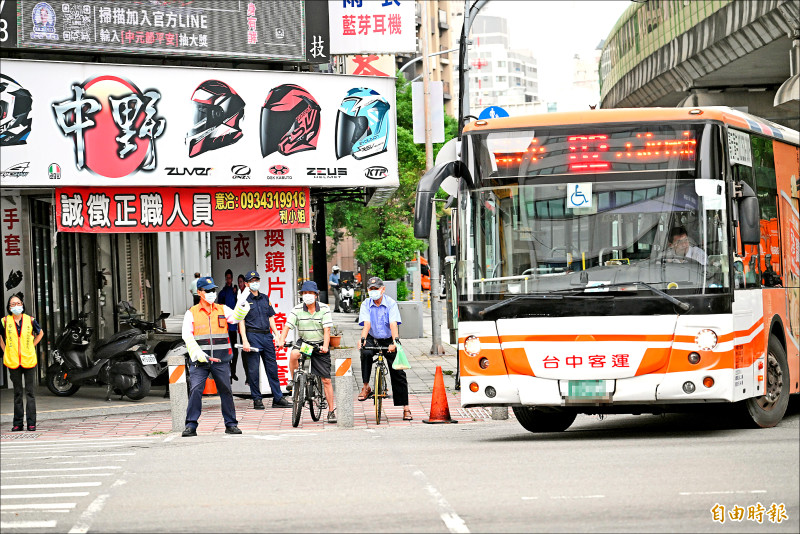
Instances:
[[[364,159],[386,152],[389,102],[377,91],[354,87],[336,115],[336,158]]]

